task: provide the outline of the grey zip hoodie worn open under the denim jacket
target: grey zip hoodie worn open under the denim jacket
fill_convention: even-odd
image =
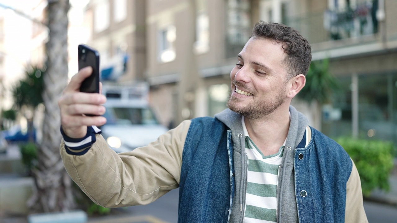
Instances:
[[[294,180],[294,151],[299,142],[301,142],[304,131],[308,125],[308,120],[301,112],[298,112],[293,106],[289,107],[291,121],[285,142],[285,152],[283,162],[279,169],[278,185],[278,222],[297,223],[297,202],[295,197],[295,180]],[[235,174],[235,193],[233,197],[233,206],[229,222],[241,223],[244,217],[245,191],[247,185],[247,154],[244,152],[244,132],[241,125],[241,116],[229,109],[215,115],[217,119],[225,123],[231,129],[233,140],[233,162]],[[291,149],[293,148],[293,149]]]

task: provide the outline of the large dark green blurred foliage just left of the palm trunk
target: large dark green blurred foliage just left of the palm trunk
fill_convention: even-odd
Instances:
[[[25,78],[20,80],[12,91],[17,109],[22,108],[24,105],[35,109],[43,102],[44,71],[45,69],[37,66],[25,68]]]

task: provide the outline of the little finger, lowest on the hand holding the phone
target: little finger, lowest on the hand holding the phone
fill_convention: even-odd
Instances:
[[[65,129],[92,125],[102,126],[105,123],[106,118],[103,116],[69,115],[62,118],[62,126]]]

